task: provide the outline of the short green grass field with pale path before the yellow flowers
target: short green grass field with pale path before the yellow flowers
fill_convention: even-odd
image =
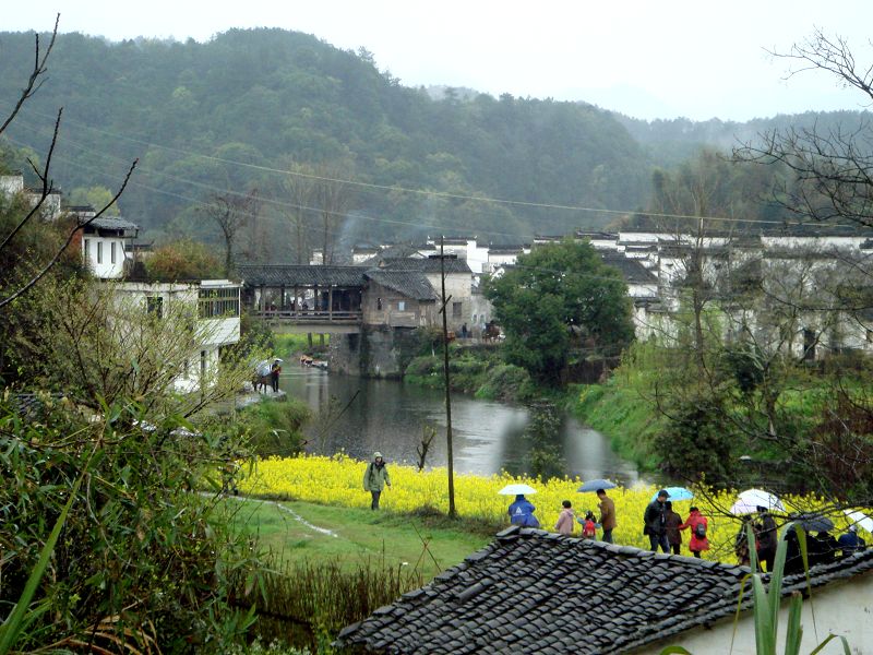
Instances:
[[[491,540],[430,516],[254,499],[232,507],[236,525],[287,564],[340,561],[354,569],[368,559],[392,568],[406,562],[430,580]]]

